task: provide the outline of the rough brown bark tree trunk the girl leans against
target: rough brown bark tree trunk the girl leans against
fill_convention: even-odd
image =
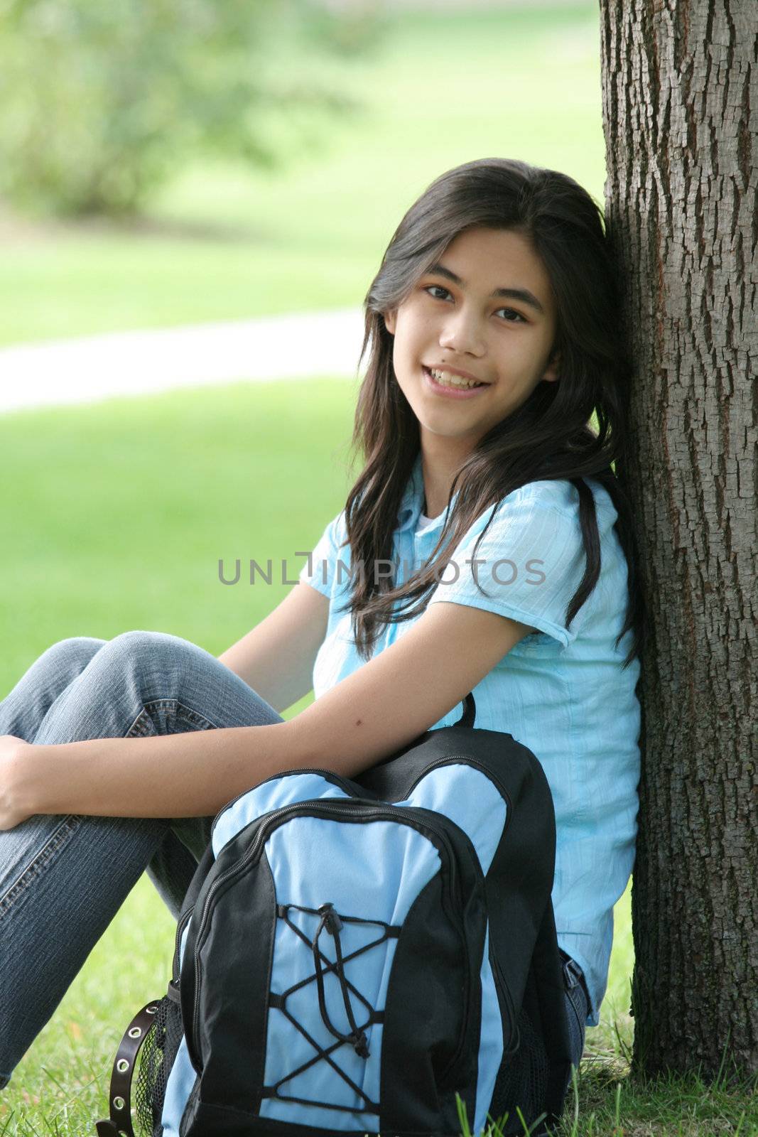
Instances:
[[[758,3],[600,0],[650,612],[633,1069],[758,1070]]]

